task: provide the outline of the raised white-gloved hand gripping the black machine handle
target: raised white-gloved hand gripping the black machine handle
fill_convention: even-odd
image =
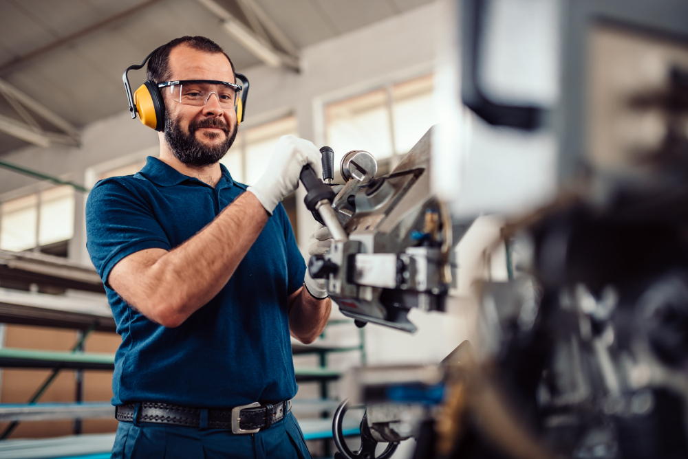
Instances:
[[[323,176],[320,150],[313,142],[283,135],[272,152],[268,169],[255,185],[248,187],[248,191],[255,194],[272,215],[277,204],[299,187],[299,174],[306,164],[310,164],[318,177]]]

